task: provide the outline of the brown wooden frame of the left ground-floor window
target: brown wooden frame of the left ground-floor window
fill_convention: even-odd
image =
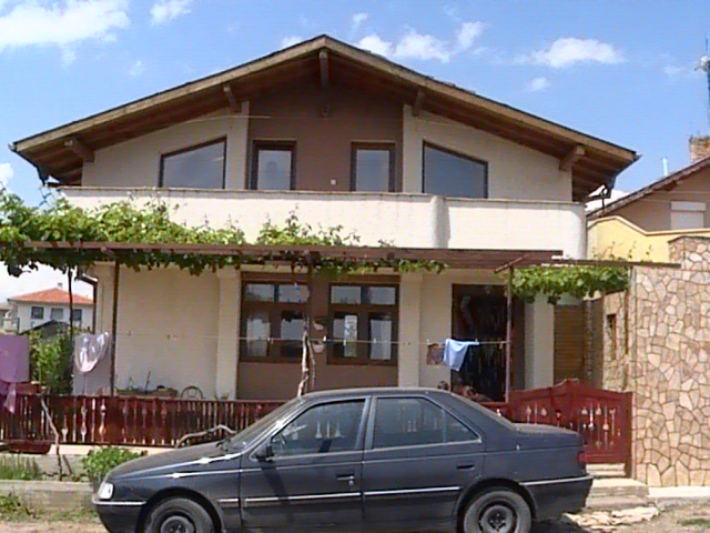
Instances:
[[[296,283],[303,286],[307,286],[305,281],[301,279],[295,280]],[[283,341],[271,341],[266,349],[266,355],[247,355],[246,349],[246,318],[250,310],[265,311],[268,313],[270,319],[270,339],[281,338],[281,318],[284,311],[296,311],[302,314],[307,314],[308,306],[313,299],[313,294],[308,293],[308,300],[305,302],[278,302],[278,301],[250,301],[246,300],[246,288],[248,285],[292,285],[293,280],[285,279],[262,279],[262,278],[246,278],[242,280],[241,286],[241,301],[240,301],[240,362],[246,363],[290,363],[301,364],[301,358],[287,358],[282,355]],[[278,334],[275,334],[278,332]]]

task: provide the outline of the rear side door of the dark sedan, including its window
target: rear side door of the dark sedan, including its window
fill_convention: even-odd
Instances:
[[[363,463],[365,523],[408,530],[452,520],[480,476],[480,435],[422,396],[378,398]]]

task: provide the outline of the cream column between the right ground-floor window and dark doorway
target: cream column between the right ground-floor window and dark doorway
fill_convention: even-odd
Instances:
[[[422,274],[405,273],[402,274],[399,283],[399,346],[397,351],[397,384],[399,386],[419,386],[422,280]]]

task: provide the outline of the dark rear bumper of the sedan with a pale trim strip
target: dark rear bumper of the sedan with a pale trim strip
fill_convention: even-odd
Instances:
[[[591,490],[591,475],[562,480],[531,481],[523,483],[535,502],[535,519],[554,519],[574,513],[587,503]]]

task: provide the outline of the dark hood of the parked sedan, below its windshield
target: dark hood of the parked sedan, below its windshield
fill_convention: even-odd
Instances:
[[[223,470],[225,461],[235,459],[240,454],[239,450],[225,452],[222,446],[210,442],[134,459],[113,469],[106,479],[119,481],[153,475],[179,477],[181,473],[194,472],[195,470],[201,472]]]

